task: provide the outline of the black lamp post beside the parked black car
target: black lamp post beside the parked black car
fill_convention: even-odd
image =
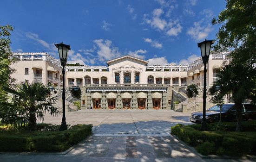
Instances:
[[[207,126],[206,126],[206,118],[205,118],[205,112],[206,112],[206,63],[209,60],[209,55],[210,55],[210,46],[211,44],[214,44],[215,40],[206,40],[200,43],[197,43],[197,46],[200,47],[201,49],[201,56],[204,64],[204,69],[203,69],[203,118],[202,118],[202,125],[201,125],[201,130],[205,131]]]

